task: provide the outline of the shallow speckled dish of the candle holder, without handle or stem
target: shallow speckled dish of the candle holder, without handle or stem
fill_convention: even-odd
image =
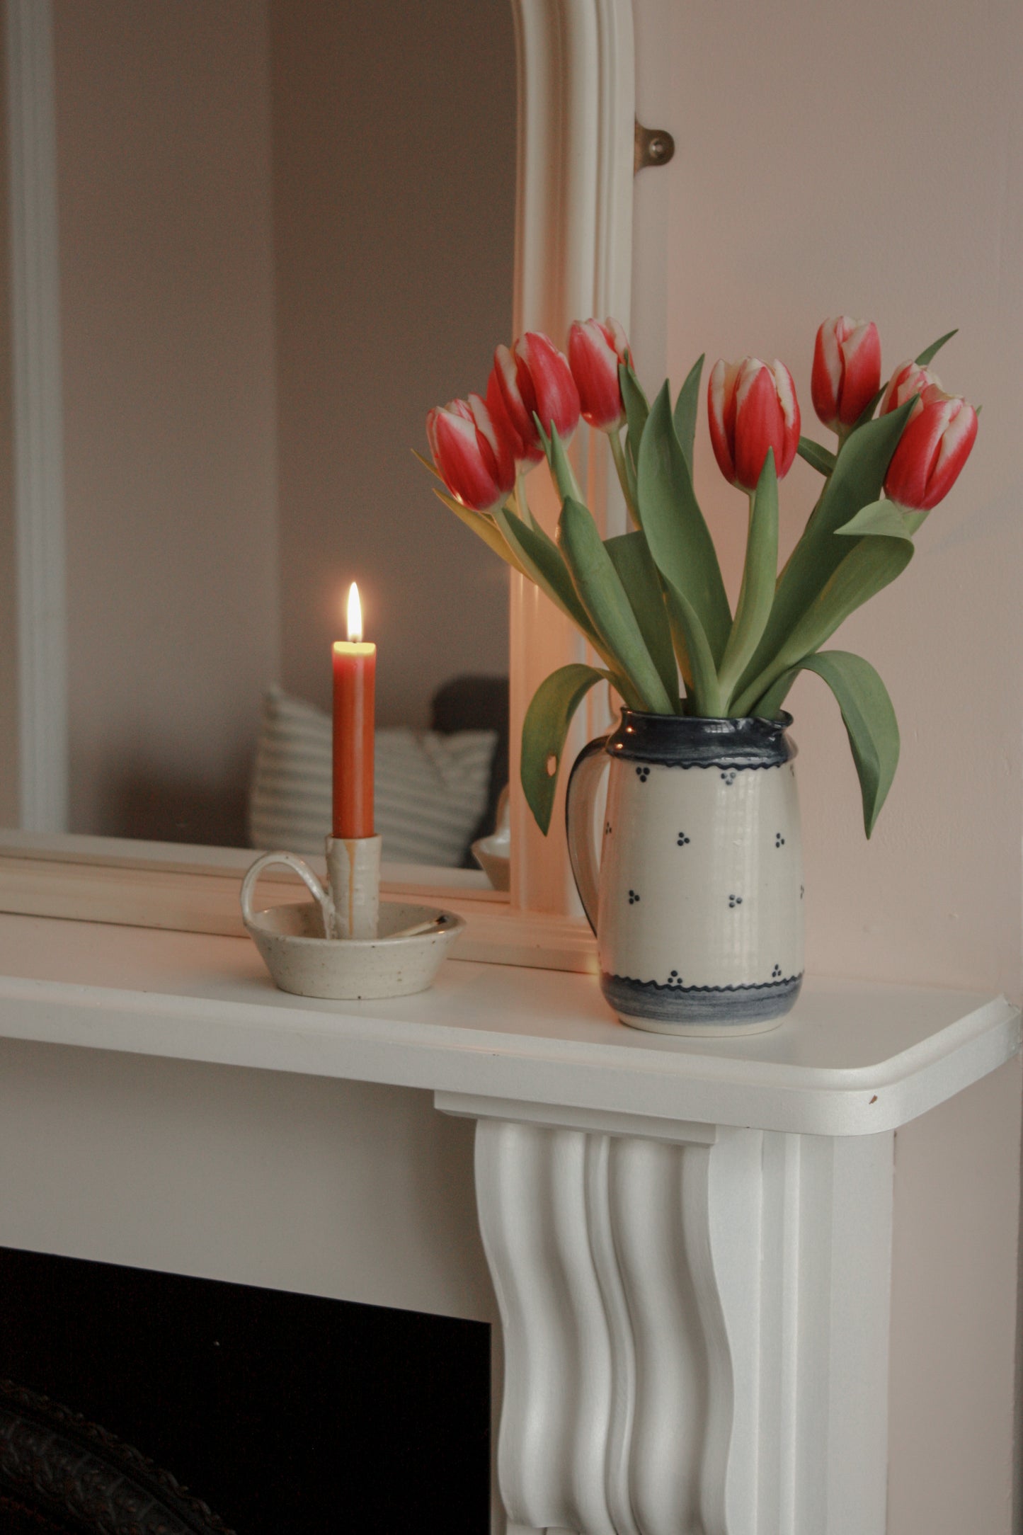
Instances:
[[[428,932],[399,935],[433,924]],[[465,921],[436,906],[380,903],[379,938],[325,938],[317,903],[271,906],[245,929],[282,992],[331,1001],[410,996],[433,984]]]

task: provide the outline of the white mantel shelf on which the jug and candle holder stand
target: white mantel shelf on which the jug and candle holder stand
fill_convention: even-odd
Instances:
[[[449,961],[431,992],[278,992],[247,939],[0,916],[0,1035],[574,1110],[857,1136],[906,1124],[1020,1048],[1003,998],[813,978],[735,1041],[620,1025],[590,976]]]

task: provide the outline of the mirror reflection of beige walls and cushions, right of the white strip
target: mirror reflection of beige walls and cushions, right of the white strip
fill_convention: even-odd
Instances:
[[[55,0],[54,58],[69,829],[322,849],[357,579],[385,858],[462,863],[508,577],[410,450],[511,332],[509,8]]]

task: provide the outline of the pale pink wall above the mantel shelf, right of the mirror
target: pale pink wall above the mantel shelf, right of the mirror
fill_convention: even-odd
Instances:
[[[644,14],[660,14],[670,37],[661,78],[643,81],[647,117],[679,141],[675,163],[638,189],[633,333],[649,379],[667,361],[681,382],[702,350],[709,365],[779,356],[805,431],[824,441],[810,362],[825,315],[874,318],[886,367],[962,327],[936,367],[983,404],[974,457],[910,571],[836,642],[874,662],[902,725],[870,844],[837,709],[816,678],[791,694],[808,959],[1018,995],[1023,134],[1012,61],[1023,8],[995,3],[982,21],[952,0],[867,0],[853,23],[811,0],[644,0]],[[646,281],[658,262],[666,312]],[[724,484],[702,418],[696,479],[736,588],[745,500]],[[788,545],[817,487],[798,460],[782,490]]]

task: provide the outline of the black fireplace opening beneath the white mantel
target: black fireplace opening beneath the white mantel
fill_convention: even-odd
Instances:
[[[489,1527],[486,1323],[9,1248],[0,1297],[0,1377],[238,1535]]]

